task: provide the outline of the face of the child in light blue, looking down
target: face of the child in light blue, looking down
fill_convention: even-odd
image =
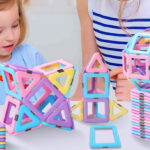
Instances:
[[[17,4],[0,11],[0,61],[8,61],[20,38]]]

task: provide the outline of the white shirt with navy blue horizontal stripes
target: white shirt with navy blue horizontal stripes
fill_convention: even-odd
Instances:
[[[131,35],[150,28],[150,1],[142,0],[136,12],[137,1],[129,0],[123,13],[123,25]],[[109,70],[122,66],[122,50],[130,39],[119,25],[118,8],[118,0],[88,0],[97,46]],[[111,83],[115,89],[116,81]]]

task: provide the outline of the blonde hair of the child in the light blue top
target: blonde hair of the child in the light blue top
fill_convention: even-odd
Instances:
[[[25,12],[23,9],[23,2],[24,2],[23,0],[0,0],[0,11],[11,8],[15,3],[17,3],[18,5],[20,38],[17,45],[19,45],[24,41],[27,32],[27,22],[26,22]]]

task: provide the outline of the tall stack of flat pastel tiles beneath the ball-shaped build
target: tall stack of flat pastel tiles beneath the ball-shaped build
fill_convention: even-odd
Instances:
[[[132,134],[150,141],[150,93],[133,89]]]

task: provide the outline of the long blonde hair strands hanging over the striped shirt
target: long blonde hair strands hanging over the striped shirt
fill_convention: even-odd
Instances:
[[[125,10],[125,6],[126,6],[126,3],[128,0],[119,0],[120,1],[120,6],[119,6],[119,10],[118,10],[118,21],[119,21],[119,25],[121,27],[121,29],[127,33],[127,35],[129,36],[132,36],[128,31],[127,31],[127,28],[123,25],[123,22],[122,22],[122,16],[123,16],[123,12]],[[138,11],[139,9],[139,6],[140,6],[140,2],[141,0],[138,0],[138,4],[137,4],[137,7],[136,7],[136,12]]]

